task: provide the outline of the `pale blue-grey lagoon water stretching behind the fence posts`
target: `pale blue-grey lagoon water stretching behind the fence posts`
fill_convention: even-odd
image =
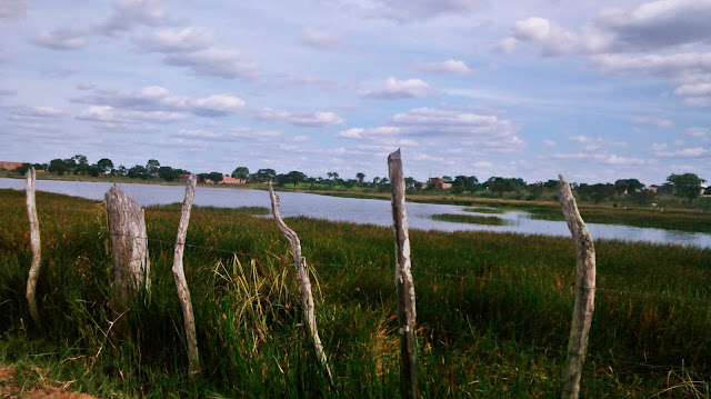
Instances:
[[[110,182],[38,180],[40,191],[103,200],[111,188]],[[186,189],[182,186],[159,184],[119,184],[122,190],[136,198],[142,206],[182,202]],[[0,189],[24,189],[23,179],[0,179]],[[342,220],[361,225],[391,226],[390,201],[354,198],[337,198],[302,192],[279,192],[281,215],[283,217],[307,216],[310,218]],[[198,187],[194,205],[210,207],[266,207],[269,208],[269,193],[261,190],[240,190],[229,188]],[[523,235],[570,236],[563,221],[531,219],[529,213],[511,211],[498,217],[505,219],[505,226],[483,226],[432,220],[437,213],[465,213],[464,207],[432,203],[407,203],[408,222],[412,229],[423,230],[489,230],[510,231]],[[711,248],[711,235],[674,230],[637,228],[620,225],[588,223],[593,239],[615,239],[657,243],[673,243]]]

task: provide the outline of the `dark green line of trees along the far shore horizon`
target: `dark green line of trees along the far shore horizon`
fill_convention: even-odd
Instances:
[[[23,164],[18,169],[20,173],[24,173],[30,163]],[[114,163],[102,158],[96,163],[90,163],[86,156],[76,154],[68,159],[52,159],[49,163],[34,163],[37,170],[53,172],[57,174],[88,174],[92,177],[99,176],[123,176],[134,179],[153,180],[160,179],[164,181],[179,180],[181,176],[189,174],[190,171],[161,166],[156,159],[149,159],[146,164],[136,164],[127,168],[122,164],[114,167]],[[373,177],[367,179],[365,173],[358,172],[353,178],[341,178],[338,172],[328,172],[327,178],[309,177],[306,173],[292,170],[287,173],[278,173],[274,169],[258,169],[250,172],[247,167],[237,167],[230,174],[234,179],[240,179],[246,183],[264,183],[273,182],[277,186],[291,184],[299,187],[302,184],[311,189],[330,189],[330,188],[363,188],[374,191],[390,190],[390,181],[387,177]],[[198,174],[201,182],[219,183],[223,180],[224,174],[221,172],[208,172]],[[647,188],[638,179],[619,179],[614,183],[572,183],[572,188],[577,196],[583,201],[602,202],[614,199],[615,197],[629,196],[629,198],[640,205],[648,205],[660,194],[675,194],[681,198],[694,200],[702,193],[703,180],[694,173],[672,173],[667,177],[664,183],[657,187],[657,192]],[[438,192],[444,191],[451,193],[472,193],[480,196],[503,197],[504,194],[514,196],[517,199],[534,200],[543,198],[544,194],[555,192],[558,180],[525,182],[521,178],[503,178],[491,177],[485,181],[479,181],[475,176],[442,176],[441,178],[430,178],[428,181],[418,181],[412,177],[405,178],[405,186],[409,191]]]

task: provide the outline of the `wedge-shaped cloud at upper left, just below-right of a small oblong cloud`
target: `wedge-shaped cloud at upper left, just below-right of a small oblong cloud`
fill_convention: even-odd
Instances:
[[[186,67],[194,74],[223,79],[254,80],[261,76],[261,69],[256,63],[246,61],[236,50],[209,48],[193,52],[170,53],[163,61],[169,66]]]

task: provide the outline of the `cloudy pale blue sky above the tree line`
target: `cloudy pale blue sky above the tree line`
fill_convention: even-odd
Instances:
[[[711,0],[0,0],[0,160],[711,180]]]

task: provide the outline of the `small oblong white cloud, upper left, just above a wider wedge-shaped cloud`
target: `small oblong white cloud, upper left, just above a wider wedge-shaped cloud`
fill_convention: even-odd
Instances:
[[[206,28],[187,27],[136,33],[131,40],[142,51],[170,53],[206,49],[212,44],[213,38]]]

